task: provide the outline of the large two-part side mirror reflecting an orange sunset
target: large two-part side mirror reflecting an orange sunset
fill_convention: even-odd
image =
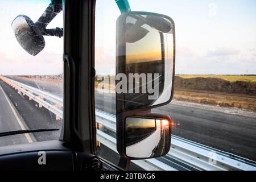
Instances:
[[[117,150],[123,159],[166,155],[171,119],[150,110],[169,104],[174,93],[174,21],[155,13],[123,13],[116,45]]]

